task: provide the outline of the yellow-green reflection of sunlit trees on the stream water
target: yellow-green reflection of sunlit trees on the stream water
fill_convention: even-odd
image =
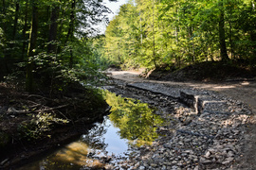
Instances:
[[[119,135],[137,145],[151,143],[157,138],[155,125],[162,120],[153,113],[148,104],[134,99],[122,98],[115,93],[106,93],[106,101],[112,107],[110,120],[119,127]]]

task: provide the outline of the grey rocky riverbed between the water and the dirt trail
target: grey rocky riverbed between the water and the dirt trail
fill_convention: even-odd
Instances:
[[[244,161],[252,113],[240,101],[206,90],[110,80],[105,87],[158,108],[160,137],[128,159],[113,156],[106,169],[249,169]]]

